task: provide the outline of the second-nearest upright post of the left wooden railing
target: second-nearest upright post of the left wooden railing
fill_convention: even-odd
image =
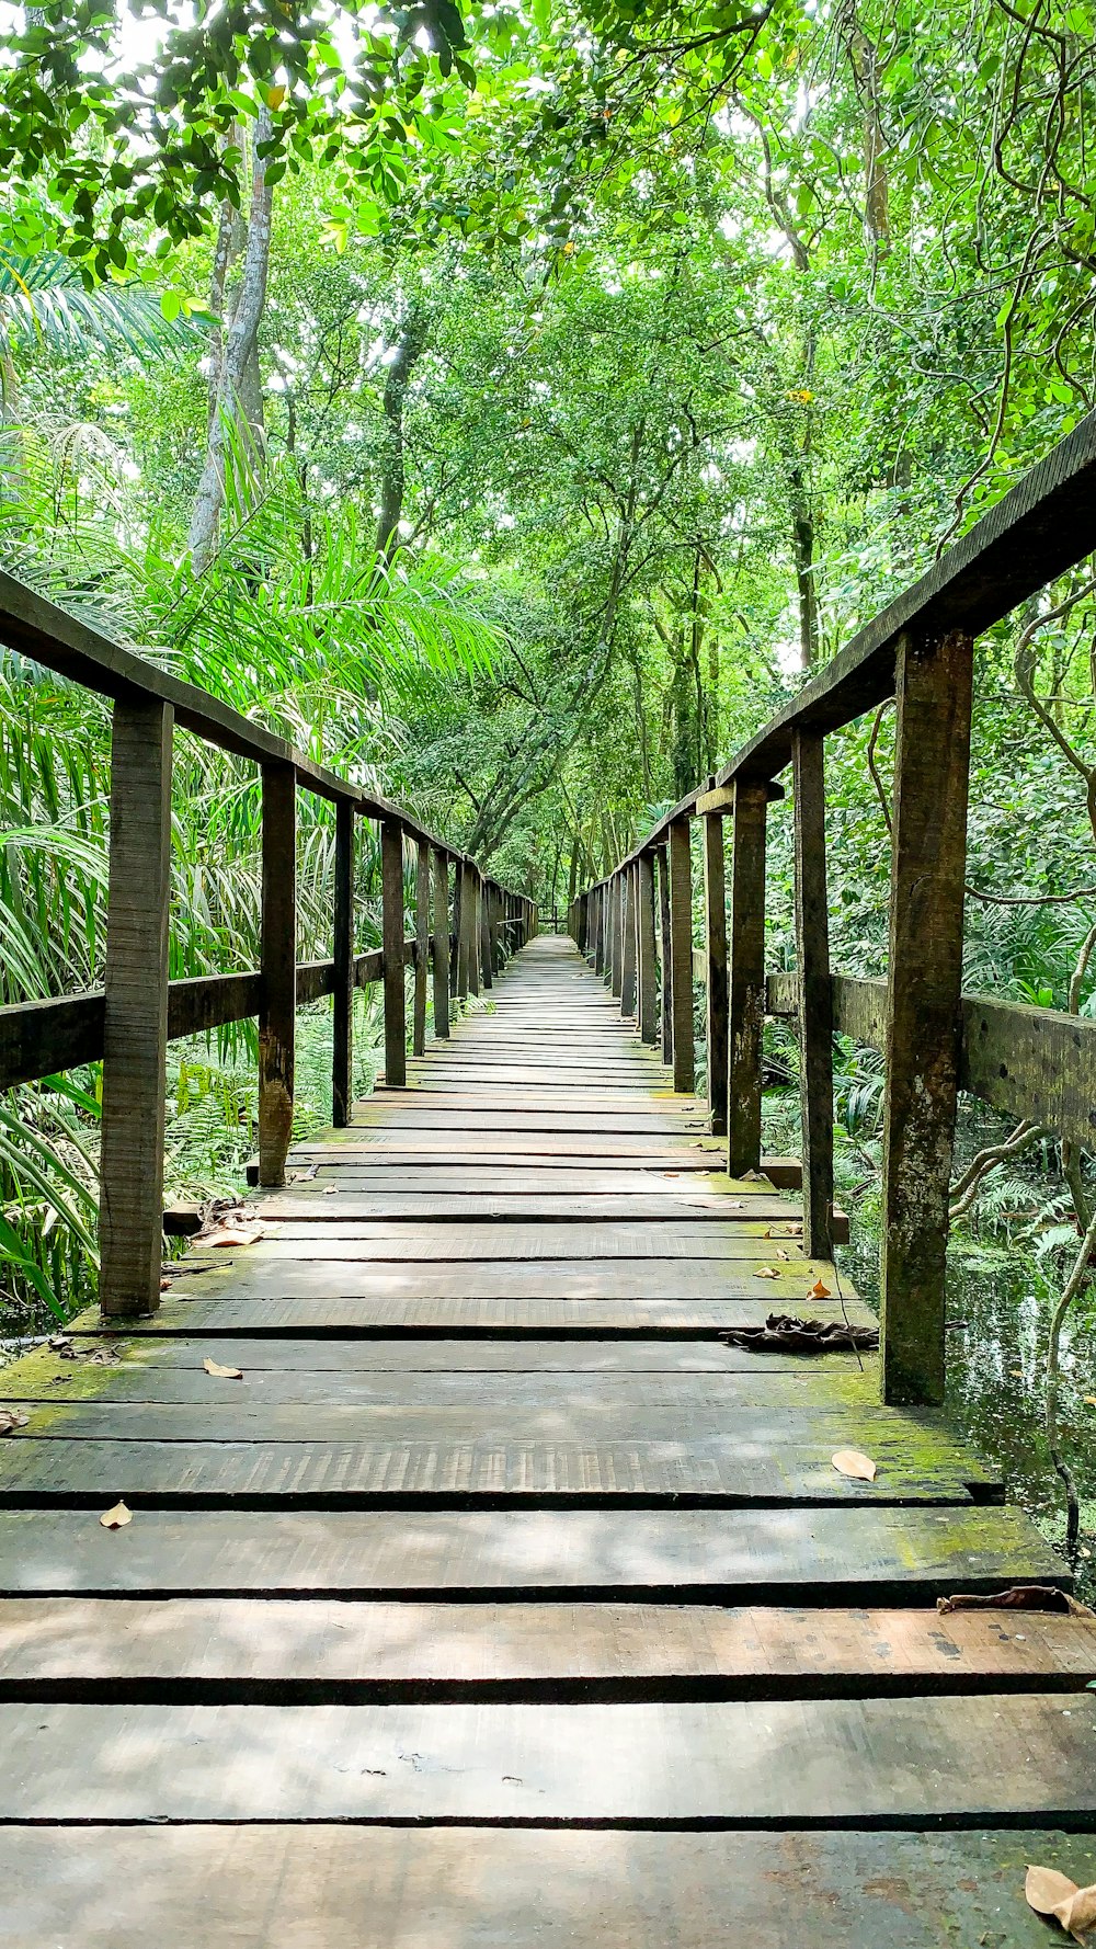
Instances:
[[[285,1185],[296,1021],[296,774],[263,764],[259,1185]]]

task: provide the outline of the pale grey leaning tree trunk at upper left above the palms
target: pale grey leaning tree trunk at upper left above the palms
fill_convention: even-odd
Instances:
[[[191,561],[201,575],[216,554],[220,511],[224,507],[224,423],[240,421],[250,429],[250,442],[255,458],[261,456],[261,388],[257,372],[259,324],[267,302],[267,279],[271,263],[271,203],[273,189],[267,183],[265,160],[259,144],[269,140],[271,121],[267,111],[255,123],[255,146],[252,164],[252,210],[248,218],[248,242],[244,248],[244,271],[232,312],[232,322],[224,333],[220,368],[216,374],[216,394],[209,425],[209,446],[205,468],[197,483],[191,515]],[[220,236],[218,236],[220,248]],[[228,263],[224,265],[224,271]],[[216,267],[215,267],[216,275]],[[257,421],[252,417],[257,407]]]

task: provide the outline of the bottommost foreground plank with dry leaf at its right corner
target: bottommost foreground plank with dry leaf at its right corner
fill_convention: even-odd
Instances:
[[[1084,1881],[1061,1830],[735,1834],[353,1824],[14,1826],[0,1830],[4,1949],[421,1949],[439,1916],[460,1949],[1045,1949],[1028,1861]],[[125,1891],[125,1896],[119,1896]],[[261,1891],[261,1900],[255,1900]],[[776,1891],[776,1892],[774,1892]],[[363,1935],[369,1916],[369,1935]],[[0,1924],[2,1926],[2,1924]],[[685,1930],[685,1933],[683,1933]]]

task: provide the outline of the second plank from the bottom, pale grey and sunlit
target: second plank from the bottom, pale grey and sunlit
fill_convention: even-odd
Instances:
[[[0,1737],[8,1820],[909,1828],[1096,1815],[1092,1727],[1057,1692],[967,1698],[961,1711],[948,1698],[353,1713],[35,1701],[0,1705]]]

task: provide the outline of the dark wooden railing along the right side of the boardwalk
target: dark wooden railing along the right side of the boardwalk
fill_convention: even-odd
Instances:
[[[761,1164],[766,1010],[800,1035],[803,1238],[829,1255],[833,1033],[885,1052],[881,1390],[944,1394],[944,1253],[956,1095],[1096,1144],[1096,1023],[961,994],[973,639],[1096,548],[1096,415],[889,604],[722,772],[569,908],[569,932],[694,1086],[692,869],[704,830],[708,1107],[731,1173]],[[823,741],[897,700],[885,982],[831,974]],[[764,974],[766,805],[792,766],[798,974]],[[729,887],[724,817],[731,821]],[[655,897],[657,871],[657,897]],[[729,904],[727,904],[729,893]],[[655,912],[659,916],[655,945]],[[729,912],[729,924],[727,924]],[[661,1017],[655,996],[661,994]]]

